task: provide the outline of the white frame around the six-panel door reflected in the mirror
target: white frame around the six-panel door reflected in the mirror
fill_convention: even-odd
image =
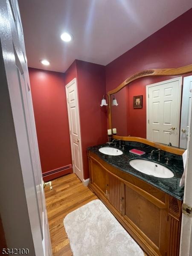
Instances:
[[[179,90],[179,93],[178,93],[178,102],[177,102],[177,144],[179,145],[179,132],[180,132],[180,108],[181,108],[181,91],[182,91],[182,79],[183,77],[180,76],[180,77],[176,77],[176,78],[173,78],[173,79],[168,79],[168,80],[165,80],[165,81],[161,81],[161,82],[158,82],[158,83],[154,83],[154,84],[149,84],[146,86],[146,126],[147,126],[147,137],[148,137],[148,134],[149,134],[149,124],[148,124],[148,119],[149,119],[149,98],[148,98],[148,89],[150,87],[154,87],[154,86],[157,86],[157,85],[161,85],[163,83],[167,83],[167,82],[174,82],[174,81],[178,81],[179,82],[179,86],[180,86],[180,90]]]

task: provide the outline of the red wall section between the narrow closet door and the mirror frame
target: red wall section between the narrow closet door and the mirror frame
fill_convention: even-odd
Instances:
[[[107,109],[101,108],[105,67],[76,60],[65,73],[65,84],[77,78],[84,179],[89,177],[87,147],[107,141]]]

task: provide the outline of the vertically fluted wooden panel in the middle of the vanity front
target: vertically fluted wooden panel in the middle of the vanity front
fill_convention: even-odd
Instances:
[[[125,215],[125,185],[115,176],[106,173],[107,197],[110,203]]]

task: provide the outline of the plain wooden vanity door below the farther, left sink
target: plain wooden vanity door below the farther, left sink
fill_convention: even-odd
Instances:
[[[90,160],[91,168],[91,183],[99,192],[107,196],[107,181],[106,181],[106,171],[94,160]]]

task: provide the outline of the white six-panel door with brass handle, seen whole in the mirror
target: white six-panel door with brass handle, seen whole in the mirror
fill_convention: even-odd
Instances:
[[[179,146],[182,77],[146,87],[147,139]]]

